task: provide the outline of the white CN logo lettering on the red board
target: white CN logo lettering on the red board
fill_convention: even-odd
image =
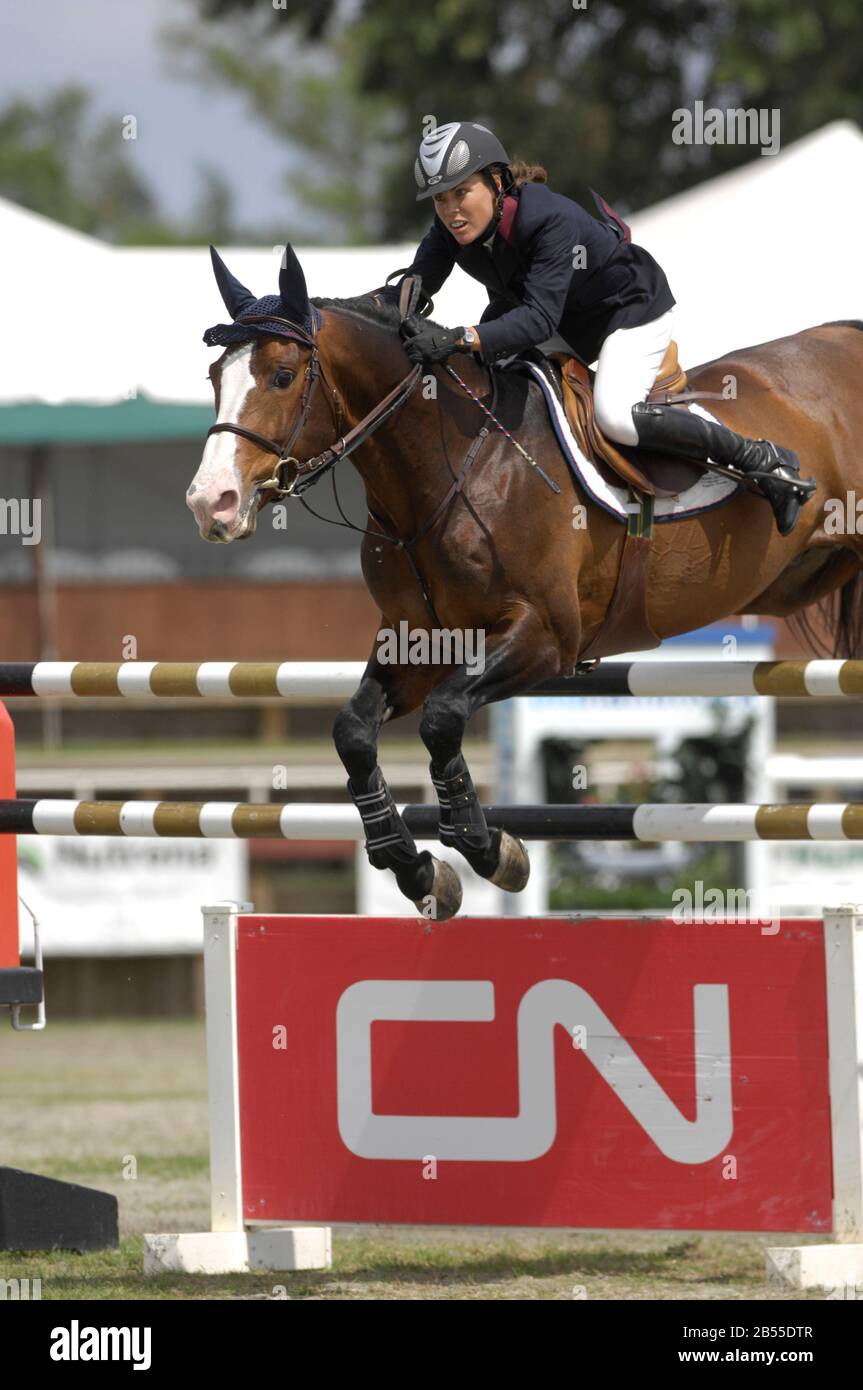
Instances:
[[[491,1023],[491,980],[360,980],[342,994],[336,1009],[339,1133],[359,1158],[409,1158],[527,1163],[554,1143],[554,1026],[571,1036],[586,1030],[581,1056],[675,1163],[706,1163],[727,1147],[731,1111],[731,1042],[728,987],[696,984],[695,1119],[681,1115],[596,1001],[570,980],[542,980],[518,1005],[518,1115],[374,1115],[371,1095],[371,1024],[377,1019],[435,1023]],[[575,1074],[574,1084],[578,1084]]]

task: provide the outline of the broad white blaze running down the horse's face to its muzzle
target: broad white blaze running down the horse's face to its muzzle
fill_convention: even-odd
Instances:
[[[243,407],[256,381],[252,371],[254,343],[242,343],[222,363],[217,423],[240,424]],[[220,523],[228,534],[222,539],[233,539],[231,528],[236,524],[240,507],[245,507],[243,480],[236,466],[239,435],[229,430],[210,435],[204,445],[200,467],[186,492],[186,506],[192,509],[202,535],[208,535],[214,523]]]

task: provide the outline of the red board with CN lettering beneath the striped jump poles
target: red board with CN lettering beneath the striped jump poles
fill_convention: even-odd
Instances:
[[[820,922],[246,916],[247,1222],[831,1229]]]

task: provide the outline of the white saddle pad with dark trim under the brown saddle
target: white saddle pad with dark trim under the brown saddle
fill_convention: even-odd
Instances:
[[[523,357],[511,357],[504,363],[496,363],[496,370],[503,371],[529,371],[531,377],[539,385],[546,404],[549,407],[549,416],[552,418],[552,428],[564,459],[567,460],[575,481],[585,489],[588,496],[600,506],[610,516],[617,517],[618,521],[627,521],[630,512],[632,509],[632,498],[630,489],[621,482],[620,486],[606,482],[600,475],[599,470],[589,459],[585,459],[584,453],[578,448],[578,442],[570,430],[570,421],[567,420],[563,403],[557,399],[545,371],[534,361],[527,361]],[[710,411],[705,410],[698,402],[692,402],[687,406],[688,410],[695,411],[695,414],[702,416],[705,420],[712,420],[714,424],[720,424]],[[727,502],[734,493],[739,492],[742,484],[732,482],[731,478],[724,478],[718,473],[703,473],[702,477],[691,488],[687,488],[675,498],[656,498],[653,505],[653,520],[656,523],[661,521],[680,521],[684,517],[698,516],[702,512],[710,512],[713,507],[720,506],[720,503]]]

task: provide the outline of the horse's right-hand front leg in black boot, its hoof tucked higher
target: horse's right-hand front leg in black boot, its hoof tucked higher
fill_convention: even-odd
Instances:
[[[481,667],[459,666],[422,706],[420,734],[431,753],[441,806],[441,842],[454,845],[471,869],[507,892],[520,892],[531,863],[520,840],[489,828],[461,753],[464,728],[482,705],[529,689],[560,669],[560,649],[532,609],[489,634]]]

